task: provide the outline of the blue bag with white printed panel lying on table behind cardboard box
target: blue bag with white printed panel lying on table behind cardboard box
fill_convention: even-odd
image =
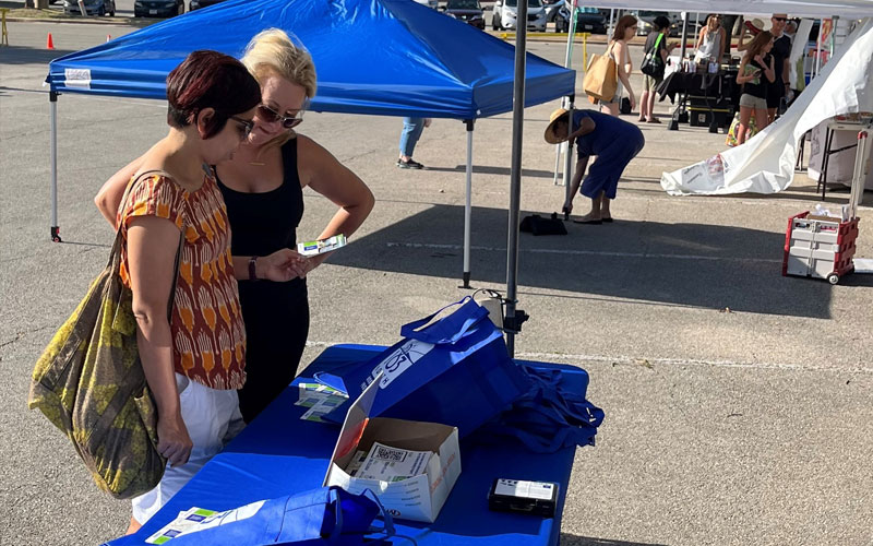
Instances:
[[[453,306],[458,308],[452,314],[431,323]],[[371,417],[442,423],[457,427],[463,438],[534,387],[510,358],[488,310],[469,296],[405,324],[400,335],[403,341],[364,365],[315,375],[349,395],[327,420],[342,423],[350,401],[381,373]]]

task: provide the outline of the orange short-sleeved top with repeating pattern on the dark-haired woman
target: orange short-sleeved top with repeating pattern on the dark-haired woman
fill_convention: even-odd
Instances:
[[[212,389],[246,382],[246,328],[230,257],[230,225],[212,176],[189,192],[165,174],[143,176],[118,213],[124,245],[121,281],[130,286],[127,230],[135,216],[157,216],[184,226],[170,331],[174,368]]]

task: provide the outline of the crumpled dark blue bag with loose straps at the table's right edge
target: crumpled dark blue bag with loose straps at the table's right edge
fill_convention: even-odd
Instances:
[[[585,390],[574,392],[561,384],[561,370],[539,370],[524,366],[534,388],[512,408],[486,424],[477,441],[491,436],[517,438],[537,453],[554,453],[575,446],[594,446],[603,411],[585,399]]]

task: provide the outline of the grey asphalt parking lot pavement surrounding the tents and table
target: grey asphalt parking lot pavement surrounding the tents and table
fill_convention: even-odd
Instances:
[[[166,131],[163,103],[62,96],[64,242],[50,242],[46,63],[134,29],[10,23],[10,46],[0,49],[3,545],[99,544],[129,521],[129,505],[96,489],[69,442],[26,408],[26,395],[41,349],[105,265],[112,233],[94,193]],[[49,32],[53,51],[44,47]],[[563,63],[561,43],[531,41],[529,50]],[[632,82],[639,88],[638,73]],[[557,106],[525,112],[523,215],[563,202],[554,150],[542,140]],[[505,283],[511,127],[509,114],[476,123],[475,287]],[[421,171],[394,166],[399,119],[311,112],[300,130],[378,201],[351,244],[309,278],[302,364],[334,343],[394,343],[400,324],[467,294],[457,287],[461,122],[439,119],[426,130],[416,149]],[[814,206],[815,183],[800,174],[776,195],[669,197],[660,174],[722,150],[725,136],[687,126],[642,130],[646,147],[624,174],[614,224],[521,236],[518,305],[531,319],[517,356],[585,368],[588,397],[607,415],[597,446],[576,453],[562,544],[873,544],[873,276],[837,286],[782,277],[786,221]],[[311,191],[304,200],[298,233],[309,238],[333,207]],[[832,203],[847,200],[828,192]],[[858,250],[866,258],[871,205],[868,192]]]

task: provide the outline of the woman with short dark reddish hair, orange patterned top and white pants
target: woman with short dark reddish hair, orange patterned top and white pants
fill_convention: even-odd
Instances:
[[[129,534],[241,428],[236,389],[246,382],[246,330],[227,214],[208,166],[234,157],[260,100],[258,82],[238,60],[192,52],[167,75],[169,133],[119,185],[122,194],[133,185],[115,209],[119,275],[133,295],[136,345],[157,407],[157,450],[167,459],[160,483],[132,499]]]

